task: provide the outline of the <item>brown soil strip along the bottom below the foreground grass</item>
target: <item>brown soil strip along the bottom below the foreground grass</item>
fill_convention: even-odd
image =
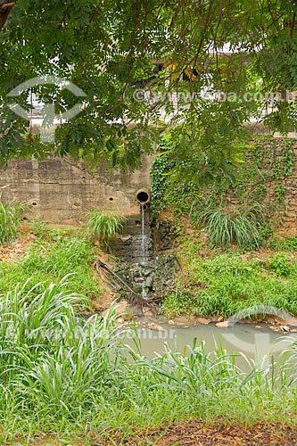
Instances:
[[[134,434],[111,430],[103,437],[100,433],[78,434],[77,440],[63,443],[54,436],[37,436],[29,446],[296,446],[297,428],[280,423],[257,423],[247,428],[239,424],[226,424],[217,418],[216,425],[200,419],[169,425],[167,428],[134,430]],[[12,443],[10,443],[12,444]]]

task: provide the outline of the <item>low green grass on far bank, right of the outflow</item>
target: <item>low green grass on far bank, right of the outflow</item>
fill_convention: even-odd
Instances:
[[[168,316],[192,312],[229,317],[262,305],[297,314],[297,265],[286,252],[266,262],[245,260],[239,253],[202,259],[192,245],[184,259],[187,274],[177,279],[163,301]]]

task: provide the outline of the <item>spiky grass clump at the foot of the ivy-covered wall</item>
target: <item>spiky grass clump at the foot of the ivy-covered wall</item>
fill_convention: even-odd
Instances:
[[[259,203],[245,210],[234,208],[232,211],[210,203],[204,210],[195,212],[194,217],[195,224],[208,231],[211,243],[223,248],[230,244],[259,247],[263,220],[263,206]]]

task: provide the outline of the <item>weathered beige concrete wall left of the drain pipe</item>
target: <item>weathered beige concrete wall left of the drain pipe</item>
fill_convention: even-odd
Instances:
[[[86,165],[70,158],[13,160],[8,169],[0,170],[0,192],[4,202],[28,203],[28,218],[52,223],[78,224],[95,208],[137,214],[136,193],[149,190],[152,161],[144,156],[141,169],[121,172],[103,166],[87,171]]]

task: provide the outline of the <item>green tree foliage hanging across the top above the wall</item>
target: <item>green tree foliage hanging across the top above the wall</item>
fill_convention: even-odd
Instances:
[[[55,153],[136,168],[168,133],[179,173],[199,169],[207,181],[240,161],[247,120],[284,133],[295,126],[295,103],[284,100],[297,89],[293,0],[17,0],[10,8],[0,31],[2,163]],[[44,144],[7,94],[49,75],[87,96]],[[79,100],[53,85],[32,91],[56,113]],[[28,91],[13,101],[30,111]]]

